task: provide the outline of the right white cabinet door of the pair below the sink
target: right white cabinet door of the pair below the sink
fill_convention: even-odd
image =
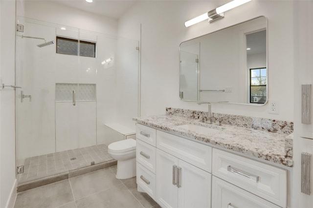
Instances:
[[[211,174],[179,160],[179,208],[209,208],[211,206]]]

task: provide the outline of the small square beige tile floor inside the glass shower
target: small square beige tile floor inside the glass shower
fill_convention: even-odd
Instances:
[[[104,144],[34,156],[25,159],[24,173],[18,174],[18,180],[24,183],[110,160],[113,158]]]

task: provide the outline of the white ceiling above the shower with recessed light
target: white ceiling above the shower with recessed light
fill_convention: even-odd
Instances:
[[[85,0],[54,0],[53,2],[86,12],[119,19],[125,11],[134,5],[136,0],[93,0],[92,3],[88,3]]]

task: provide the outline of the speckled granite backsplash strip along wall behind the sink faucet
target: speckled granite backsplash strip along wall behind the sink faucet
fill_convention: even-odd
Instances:
[[[186,110],[181,108],[166,107],[166,115],[180,116],[189,119],[201,119],[202,115],[207,118],[207,112],[198,110]],[[272,133],[290,135],[293,133],[293,122],[275,119],[238,116],[231,114],[213,113],[213,122],[234,125],[249,129],[265,130]]]

